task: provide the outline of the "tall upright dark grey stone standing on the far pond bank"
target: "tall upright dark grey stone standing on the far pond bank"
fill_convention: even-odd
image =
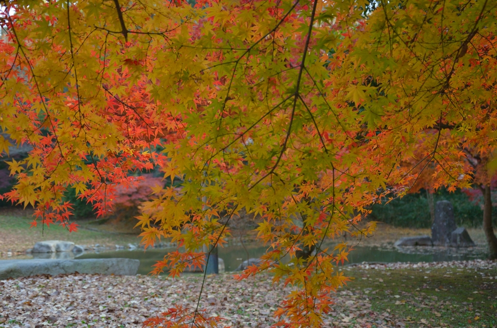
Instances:
[[[435,246],[449,246],[451,233],[456,230],[454,208],[450,201],[437,201],[435,205],[435,221],[431,226],[431,240]]]

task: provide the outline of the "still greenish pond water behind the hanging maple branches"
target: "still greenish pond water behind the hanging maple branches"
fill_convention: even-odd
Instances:
[[[259,258],[266,252],[266,247],[247,247],[250,258]],[[86,253],[78,259],[108,259],[128,258],[140,260],[139,274],[148,274],[156,261],[163,260],[170,249],[121,250],[101,253]],[[240,245],[230,245],[219,248],[219,257],[225,262],[226,271],[235,270],[242,261],[247,260],[247,252]],[[487,251],[484,247],[466,249],[443,247],[403,247],[395,248],[393,245],[386,247],[355,246],[348,256],[348,263],[361,262],[441,262],[441,261],[467,261],[485,259]],[[344,263],[347,264],[346,262]]]

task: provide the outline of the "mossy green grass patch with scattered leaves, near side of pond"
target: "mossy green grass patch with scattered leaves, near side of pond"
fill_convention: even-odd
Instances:
[[[395,314],[406,327],[497,327],[497,269],[353,268],[346,275],[354,278],[346,289],[362,291],[372,310]]]

